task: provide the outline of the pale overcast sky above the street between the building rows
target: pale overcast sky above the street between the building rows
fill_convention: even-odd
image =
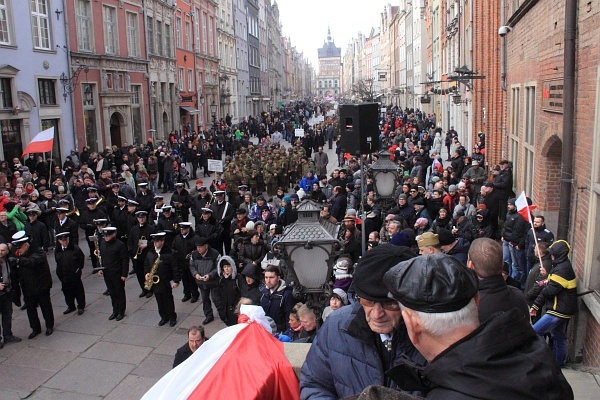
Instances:
[[[397,0],[276,0],[279,6],[282,34],[291,38],[292,45],[304,53],[318,68],[317,49],[323,46],[327,27],[342,58],[350,39],[358,32],[368,35],[379,27],[380,15],[386,4],[397,5]]]

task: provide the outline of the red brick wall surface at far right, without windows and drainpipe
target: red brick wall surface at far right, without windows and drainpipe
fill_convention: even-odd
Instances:
[[[586,268],[586,245],[588,243],[591,171],[593,165],[594,122],[596,114],[596,79],[600,64],[600,7],[596,3],[578,3],[575,121],[570,129],[574,133],[574,182],[570,204],[573,266],[579,278],[581,290],[585,287],[585,276],[598,271],[584,273]],[[562,162],[563,115],[544,111],[541,108],[543,82],[564,76],[564,14],[565,2],[559,0],[538,1],[522,19],[509,19],[513,30],[507,41],[507,86],[521,87],[521,119],[525,116],[525,85],[536,85],[535,159],[534,188],[532,198],[542,211],[555,211],[559,206]],[[510,14],[507,14],[510,16]],[[507,108],[511,110],[510,96]],[[510,112],[510,111],[509,111]],[[507,113],[507,121],[510,121]],[[508,126],[510,129],[510,126]],[[524,139],[525,124],[519,125],[519,138]],[[523,185],[523,151],[519,164],[515,166],[515,184],[520,190]],[[578,188],[583,187],[583,190]],[[598,233],[597,233],[598,234]],[[595,288],[598,289],[598,288]],[[587,311],[585,311],[587,313]],[[584,319],[581,319],[583,321]],[[580,322],[574,334],[585,338],[583,363],[600,366],[600,324],[589,314],[587,322]],[[579,351],[579,349],[574,349]]]

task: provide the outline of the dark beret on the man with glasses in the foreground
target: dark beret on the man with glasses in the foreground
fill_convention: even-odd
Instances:
[[[367,251],[354,272],[356,294],[371,301],[389,301],[383,276],[399,262],[413,257],[416,254],[409,248],[391,244],[382,244]]]

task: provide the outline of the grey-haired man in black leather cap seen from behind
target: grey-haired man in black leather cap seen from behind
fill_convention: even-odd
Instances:
[[[404,261],[383,278],[402,307],[410,340],[429,362],[405,360],[389,375],[428,399],[572,399],[544,340],[517,309],[486,323],[477,315],[473,270],[446,254]]]

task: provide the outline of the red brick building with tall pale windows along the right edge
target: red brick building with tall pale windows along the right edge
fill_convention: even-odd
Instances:
[[[507,158],[515,192],[525,190],[550,219],[559,208],[563,162],[565,2],[506,2]],[[580,312],[569,329],[571,360],[600,367],[600,8],[578,3],[574,179],[568,241],[578,277]],[[489,124],[488,124],[489,125]],[[568,134],[569,132],[566,132]],[[551,217],[551,218],[548,218]]]

